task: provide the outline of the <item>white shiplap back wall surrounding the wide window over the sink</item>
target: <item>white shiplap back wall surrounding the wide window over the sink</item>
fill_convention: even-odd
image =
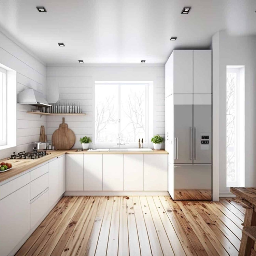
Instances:
[[[60,99],[79,101],[86,116],[66,116],[65,122],[75,133],[74,148],[81,148],[80,137],[93,136],[94,83],[95,81],[153,81],[154,134],[165,133],[165,78],[163,65],[83,65],[47,67],[47,94],[59,87]],[[150,103],[151,104],[151,103]],[[62,122],[62,116],[47,116],[47,138]],[[150,144],[152,147],[152,143]]]

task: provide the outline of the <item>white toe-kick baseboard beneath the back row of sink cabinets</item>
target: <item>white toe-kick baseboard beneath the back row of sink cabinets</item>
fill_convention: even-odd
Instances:
[[[64,196],[170,196],[168,191],[66,191]]]

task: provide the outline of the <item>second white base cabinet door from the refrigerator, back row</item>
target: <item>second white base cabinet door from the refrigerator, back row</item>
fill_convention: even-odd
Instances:
[[[124,190],[144,190],[144,155],[124,155]]]

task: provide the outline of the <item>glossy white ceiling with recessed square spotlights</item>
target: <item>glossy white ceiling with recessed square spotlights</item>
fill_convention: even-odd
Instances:
[[[0,0],[0,26],[48,65],[165,63],[174,48],[209,48],[222,29],[256,34],[255,11],[256,0]]]

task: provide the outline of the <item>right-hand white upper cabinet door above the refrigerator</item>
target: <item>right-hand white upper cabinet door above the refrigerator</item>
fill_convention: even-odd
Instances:
[[[212,93],[212,50],[194,50],[194,94]]]

